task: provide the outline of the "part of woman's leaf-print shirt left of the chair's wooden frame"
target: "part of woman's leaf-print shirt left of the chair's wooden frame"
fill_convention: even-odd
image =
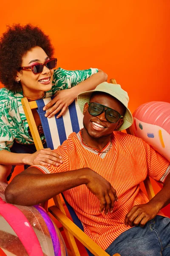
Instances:
[[[0,150],[10,151],[14,140],[19,144],[33,144],[21,104],[23,94],[0,89]]]

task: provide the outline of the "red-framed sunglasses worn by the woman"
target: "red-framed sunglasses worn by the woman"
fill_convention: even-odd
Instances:
[[[42,72],[44,66],[47,67],[49,70],[53,69],[57,65],[57,58],[51,58],[46,61],[44,64],[37,63],[27,67],[20,67],[19,70],[28,70],[31,69],[34,74],[39,74]]]

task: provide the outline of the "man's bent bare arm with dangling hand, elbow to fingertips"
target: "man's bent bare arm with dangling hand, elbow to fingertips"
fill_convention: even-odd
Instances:
[[[59,193],[85,184],[100,201],[102,212],[113,211],[116,191],[102,176],[89,168],[43,174],[39,169],[30,167],[14,177],[5,190],[8,203],[21,205],[40,204]]]

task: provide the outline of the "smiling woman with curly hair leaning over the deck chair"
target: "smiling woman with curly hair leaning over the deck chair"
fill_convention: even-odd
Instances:
[[[0,180],[9,180],[11,166],[16,165],[58,165],[61,157],[49,148],[36,151],[21,99],[29,101],[55,96],[45,106],[45,116],[65,112],[77,95],[93,90],[107,80],[102,70],[88,69],[67,71],[54,70],[57,58],[50,39],[38,27],[8,27],[0,39]],[[66,90],[63,90],[66,89]],[[35,121],[43,143],[45,137],[40,118],[35,112]],[[12,168],[13,171],[14,168]],[[9,175],[9,176],[8,176]]]

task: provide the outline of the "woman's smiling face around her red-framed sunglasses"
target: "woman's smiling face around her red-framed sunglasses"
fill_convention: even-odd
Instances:
[[[45,51],[41,47],[34,47],[29,50],[24,56],[21,67],[27,67],[34,64],[44,64],[49,60]],[[23,93],[28,98],[36,99],[43,92],[51,90],[53,81],[54,69],[49,70],[44,66],[42,73],[34,74],[31,69],[21,70],[17,72],[17,80],[20,80]]]

